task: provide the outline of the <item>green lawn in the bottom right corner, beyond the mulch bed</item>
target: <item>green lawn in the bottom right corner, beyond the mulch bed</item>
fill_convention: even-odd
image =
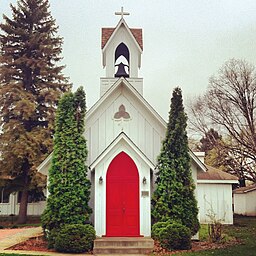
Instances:
[[[241,240],[241,244],[224,249],[177,253],[172,256],[256,256],[256,217],[236,216],[234,218],[234,225],[224,226],[224,233]]]

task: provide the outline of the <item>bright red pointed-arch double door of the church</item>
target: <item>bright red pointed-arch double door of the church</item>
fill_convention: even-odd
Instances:
[[[139,173],[124,152],[108,167],[106,192],[106,236],[139,236]]]

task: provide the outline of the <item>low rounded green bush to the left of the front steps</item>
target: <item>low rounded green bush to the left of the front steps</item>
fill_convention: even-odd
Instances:
[[[64,225],[55,239],[55,249],[58,252],[81,253],[92,250],[96,238],[91,225]]]

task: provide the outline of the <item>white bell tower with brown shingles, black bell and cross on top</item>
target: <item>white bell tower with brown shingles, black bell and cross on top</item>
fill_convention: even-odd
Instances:
[[[115,28],[102,28],[102,64],[106,75],[102,77],[101,96],[120,78],[125,78],[140,94],[143,79],[138,77],[143,51],[142,29],[129,28],[124,20],[129,13],[116,12],[121,18]]]

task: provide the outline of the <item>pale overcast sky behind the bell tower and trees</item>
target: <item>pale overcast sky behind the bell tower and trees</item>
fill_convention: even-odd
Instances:
[[[208,79],[230,58],[256,64],[256,0],[49,0],[64,38],[65,74],[83,85],[87,106],[99,98],[101,28],[115,27],[121,6],[131,28],[143,29],[139,72],[144,97],[167,119],[171,93],[180,86],[184,101],[205,92]],[[0,13],[10,16],[0,0]],[[2,21],[2,18],[1,20]]]

